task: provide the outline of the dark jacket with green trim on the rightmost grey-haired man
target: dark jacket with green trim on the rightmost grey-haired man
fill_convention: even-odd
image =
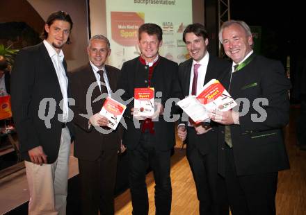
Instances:
[[[228,72],[228,77],[232,69]],[[230,80],[230,78],[228,78]],[[230,126],[234,161],[237,175],[276,172],[289,169],[289,160],[282,128],[289,122],[288,90],[291,84],[285,75],[282,64],[259,55],[232,74],[230,94],[237,98],[248,99],[240,103],[250,108],[239,117],[240,125]],[[266,98],[268,104],[256,105],[255,99]],[[259,107],[260,106],[260,107]],[[261,109],[263,108],[263,109]],[[266,119],[256,122],[254,119]],[[224,132],[220,130],[218,147],[219,173],[224,174]]]

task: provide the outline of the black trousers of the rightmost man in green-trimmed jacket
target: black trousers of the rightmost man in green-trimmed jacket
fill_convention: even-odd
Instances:
[[[225,155],[225,182],[232,215],[275,214],[277,172],[238,176],[233,149],[226,144]]]

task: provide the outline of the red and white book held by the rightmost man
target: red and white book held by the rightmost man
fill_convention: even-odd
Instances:
[[[207,110],[227,111],[237,105],[223,85],[216,79],[211,79],[204,85],[197,99]]]

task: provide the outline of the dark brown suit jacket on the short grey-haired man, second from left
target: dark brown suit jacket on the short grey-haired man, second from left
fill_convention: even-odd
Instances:
[[[115,92],[117,90],[120,70],[108,65],[105,65],[105,69],[111,90]],[[75,99],[75,105],[72,107],[74,112],[73,122],[75,125],[74,156],[82,160],[94,161],[101,155],[102,150],[118,149],[120,147],[120,126],[109,134],[102,134],[92,126],[88,128],[88,119],[82,117],[80,114],[88,114],[88,110],[86,109],[86,94],[89,86],[92,83],[97,83],[95,74],[88,63],[72,71],[70,77],[72,82],[72,98]],[[102,93],[107,94],[107,92]],[[90,98],[93,114],[100,112],[105,101],[106,96],[104,96],[103,100],[93,102],[100,95],[100,89],[96,86]],[[108,130],[108,128],[104,129]]]

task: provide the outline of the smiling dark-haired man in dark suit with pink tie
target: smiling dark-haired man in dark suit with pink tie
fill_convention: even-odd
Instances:
[[[188,25],[183,40],[191,59],[179,65],[179,83],[184,96],[198,95],[209,80],[222,81],[230,63],[209,55],[208,33],[202,24]],[[218,175],[217,126],[217,123],[184,122],[178,128],[179,137],[183,141],[186,138],[186,155],[200,201],[200,214],[229,214],[225,183]]]

